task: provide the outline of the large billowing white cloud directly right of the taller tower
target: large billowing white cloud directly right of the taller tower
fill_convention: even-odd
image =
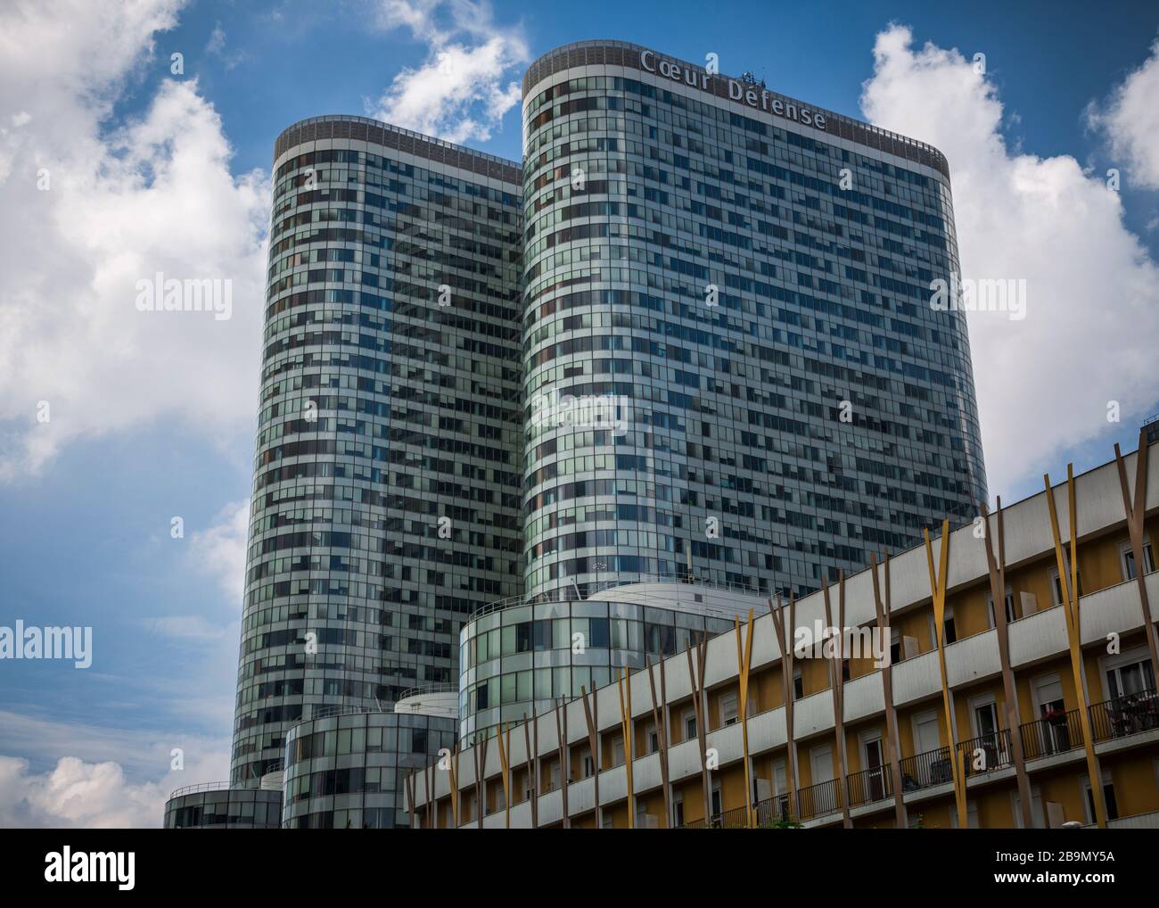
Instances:
[[[1108,401],[1127,419],[1159,399],[1159,269],[1100,176],[1007,147],[997,89],[957,50],[882,31],[861,107],[949,159],[963,277],[1027,281],[1025,320],[969,315],[990,494],[1008,497],[1103,433]]]

